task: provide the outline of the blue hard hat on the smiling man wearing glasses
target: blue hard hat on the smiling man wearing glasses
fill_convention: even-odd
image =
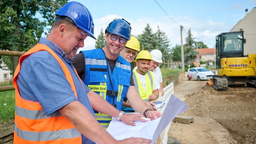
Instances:
[[[131,29],[132,28],[127,21],[124,19],[116,19],[108,24],[105,33],[109,32],[130,40]]]

